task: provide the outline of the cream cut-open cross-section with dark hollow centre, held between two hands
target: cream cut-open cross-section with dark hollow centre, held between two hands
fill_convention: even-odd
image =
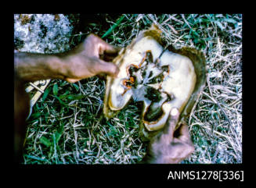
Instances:
[[[160,30],[153,25],[143,31],[114,63],[117,78],[107,77],[103,112],[107,119],[128,101],[142,101],[142,126],[146,131],[164,127],[171,108],[185,108],[197,83],[197,71],[186,55],[164,48]]]

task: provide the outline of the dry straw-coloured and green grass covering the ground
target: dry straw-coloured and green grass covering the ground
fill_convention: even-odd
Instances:
[[[110,18],[107,22],[111,27],[117,19]],[[139,30],[149,28],[152,23],[160,26],[168,44],[175,48],[197,48],[204,51],[207,59],[207,85],[187,119],[195,151],[182,163],[241,163],[242,16],[125,15],[104,40],[125,47]],[[93,31],[100,37],[106,33],[107,29],[97,28],[100,27],[92,24],[88,33]],[[28,119],[24,163],[140,161],[147,145],[139,137],[140,108],[132,102],[106,121],[104,93],[105,81],[97,76],[78,83],[52,80]]]

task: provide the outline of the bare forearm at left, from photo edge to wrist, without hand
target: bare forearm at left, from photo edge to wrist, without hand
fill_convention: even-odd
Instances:
[[[18,52],[14,54],[14,69],[25,81],[65,79],[67,63],[61,55]]]

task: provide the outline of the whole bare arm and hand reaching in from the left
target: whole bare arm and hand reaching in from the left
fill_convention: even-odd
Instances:
[[[25,81],[63,79],[74,83],[99,73],[116,76],[118,67],[112,62],[106,62],[104,58],[110,55],[110,59],[114,59],[117,52],[117,49],[99,37],[89,35],[76,48],[64,53],[14,53],[14,68]]]

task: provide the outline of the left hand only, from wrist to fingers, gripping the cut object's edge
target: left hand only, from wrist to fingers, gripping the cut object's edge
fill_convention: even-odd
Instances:
[[[69,51],[63,58],[67,62],[65,80],[74,83],[102,73],[117,76],[119,69],[110,61],[117,56],[118,51],[118,48],[107,44],[96,35],[88,35],[83,43]]]

